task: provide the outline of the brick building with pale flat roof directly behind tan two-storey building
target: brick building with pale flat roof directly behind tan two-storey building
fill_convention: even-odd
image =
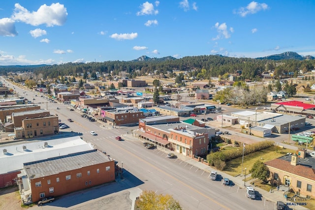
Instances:
[[[22,120],[24,119],[38,118],[38,117],[44,117],[44,116],[50,116],[49,111],[45,109],[36,109],[36,110],[28,110],[24,112],[11,113],[11,119],[15,127],[21,127]]]

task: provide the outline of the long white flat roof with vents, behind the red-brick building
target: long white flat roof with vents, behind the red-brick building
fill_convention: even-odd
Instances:
[[[48,143],[48,147],[44,147],[45,142]],[[26,146],[26,150],[23,150],[23,146]],[[6,154],[3,153],[4,149],[7,150]],[[93,149],[90,143],[83,141],[79,136],[1,145],[0,174],[21,170],[25,162]]]

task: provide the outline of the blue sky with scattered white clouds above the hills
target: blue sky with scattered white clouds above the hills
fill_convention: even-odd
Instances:
[[[0,65],[315,56],[314,0],[6,0]]]

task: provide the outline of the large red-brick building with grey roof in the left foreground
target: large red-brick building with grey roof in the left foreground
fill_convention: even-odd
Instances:
[[[115,161],[97,150],[24,163],[23,187],[32,202],[115,180]],[[23,176],[24,175],[24,176]]]

